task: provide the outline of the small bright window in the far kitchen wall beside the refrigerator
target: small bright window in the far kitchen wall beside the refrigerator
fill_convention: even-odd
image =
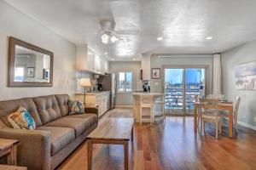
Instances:
[[[132,91],[132,72],[119,72],[119,92]]]

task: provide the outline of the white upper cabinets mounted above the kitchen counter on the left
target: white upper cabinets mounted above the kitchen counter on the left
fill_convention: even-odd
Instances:
[[[105,62],[105,59],[101,58],[98,54],[90,50],[90,48],[87,48],[87,45],[77,47],[77,70],[105,74]]]

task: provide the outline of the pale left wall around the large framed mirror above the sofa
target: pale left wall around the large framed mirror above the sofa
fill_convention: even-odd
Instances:
[[[53,87],[8,88],[8,38],[30,42],[54,53]],[[0,100],[47,94],[75,93],[75,56],[73,43],[32,20],[8,3],[0,1]]]

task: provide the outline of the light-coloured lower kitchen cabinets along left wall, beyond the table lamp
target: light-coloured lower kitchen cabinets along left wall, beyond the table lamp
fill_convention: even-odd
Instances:
[[[76,94],[76,99],[83,101],[84,94]],[[110,109],[110,91],[86,94],[85,103],[98,105],[98,116],[102,116]]]

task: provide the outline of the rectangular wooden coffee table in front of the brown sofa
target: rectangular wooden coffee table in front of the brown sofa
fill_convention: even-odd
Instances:
[[[128,142],[133,141],[133,118],[109,118],[87,136],[88,170],[92,169],[92,144],[124,144],[125,170],[128,170]]]

